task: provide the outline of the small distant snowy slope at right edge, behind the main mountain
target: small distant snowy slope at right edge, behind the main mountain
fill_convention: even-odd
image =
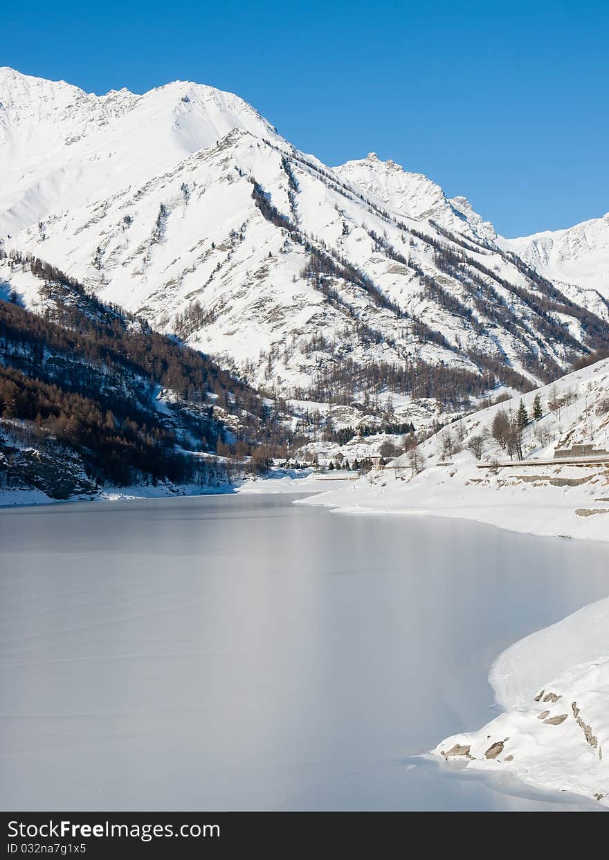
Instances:
[[[499,237],[497,242],[547,278],[609,298],[609,212],[567,230],[544,230],[519,239]]]

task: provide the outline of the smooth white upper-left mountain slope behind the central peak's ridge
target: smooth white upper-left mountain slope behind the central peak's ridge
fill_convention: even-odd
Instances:
[[[84,93],[0,69],[0,236],[170,169],[233,128],[278,139],[237,95],[175,81]]]

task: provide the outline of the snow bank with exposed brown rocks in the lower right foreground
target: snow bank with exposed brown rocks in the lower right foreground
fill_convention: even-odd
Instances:
[[[489,676],[506,712],[433,754],[609,807],[608,622],[609,598],[507,648]]]

